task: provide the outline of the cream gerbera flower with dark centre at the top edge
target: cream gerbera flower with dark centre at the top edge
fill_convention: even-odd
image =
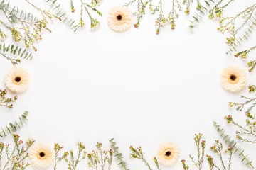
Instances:
[[[132,13],[127,7],[114,7],[110,10],[107,23],[112,30],[122,32],[132,26]]]

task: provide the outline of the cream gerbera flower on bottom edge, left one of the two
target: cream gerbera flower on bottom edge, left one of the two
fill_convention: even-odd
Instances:
[[[31,149],[29,157],[34,166],[46,168],[53,160],[53,151],[50,147],[38,144]]]

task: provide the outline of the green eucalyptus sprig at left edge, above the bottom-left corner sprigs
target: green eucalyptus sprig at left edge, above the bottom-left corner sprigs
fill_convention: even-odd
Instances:
[[[18,128],[21,128],[24,120],[28,120],[28,111],[25,111],[21,117],[19,117],[19,121],[15,121],[14,123],[9,123],[9,125],[5,125],[5,129],[1,128],[0,137],[6,137],[6,132],[16,132]]]

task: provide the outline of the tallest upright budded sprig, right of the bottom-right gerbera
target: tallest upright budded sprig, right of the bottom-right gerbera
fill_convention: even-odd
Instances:
[[[191,155],[189,155],[189,158],[191,159],[191,161],[193,162],[193,164],[199,169],[203,169],[203,157],[205,155],[205,149],[206,149],[206,141],[201,140],[202,138],[201,133],[199,134],[195,134],[194,137],[194,142],[196,144],[197,147],[197,161],[194,159],[194,157],[192,157]]]

